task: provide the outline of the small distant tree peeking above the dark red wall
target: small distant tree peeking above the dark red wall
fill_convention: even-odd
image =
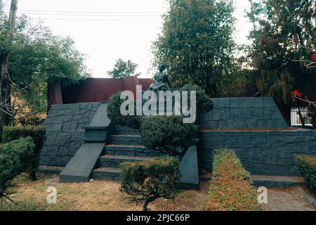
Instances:
[[[124,61],[119,58],[114,64],[113,70],[108,71],[107,75],[113,78],[131,77],[134,75],[136,68],[138,68],[138,65],[131,60]]]

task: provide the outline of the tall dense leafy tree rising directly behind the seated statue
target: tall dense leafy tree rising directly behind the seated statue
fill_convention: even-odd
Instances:
[[[234,90],[227,91],[229,86],[240,86],[232,1],[169,0],[169,4],[162,33],[152,46],[154,63],[169,66],[173,86],[192,83],[212,97],[234,96]]]

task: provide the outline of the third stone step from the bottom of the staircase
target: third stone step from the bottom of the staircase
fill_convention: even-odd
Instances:
[[[158,150],[151,150],[140,145],[106,145],[103,150],[103,155],[126,155],[139,157],[157,157],[163,156]]]

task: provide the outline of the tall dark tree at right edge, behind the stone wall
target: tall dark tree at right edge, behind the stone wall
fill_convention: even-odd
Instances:
[[[315,90],[315,72],[294,62],[315,48],[315,1],[256,1],[248,16],[254,23],[249,56],[261,96],[273,96],[287,107],[293,89]]]

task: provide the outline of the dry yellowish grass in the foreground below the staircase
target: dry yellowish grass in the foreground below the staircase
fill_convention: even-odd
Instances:
[[[142,210],[135,203],[127,203],[124,193],[119,191],[119,181],[91,181],[81,184],[46,184],[46,179],[56,176],[42,176],[38,181],[29,181],[25,176],[18,178],[18,186],[11,195],[18,203],[0,206],[0,210],[93,210],[124,211]],[[57,204],[48,204],[48,186],[57,189]],[[200,210],[206,198],[209,182],[201,184],[200,191],[180,191],[173,200],[158,199],[149,205],[151,210]]]

